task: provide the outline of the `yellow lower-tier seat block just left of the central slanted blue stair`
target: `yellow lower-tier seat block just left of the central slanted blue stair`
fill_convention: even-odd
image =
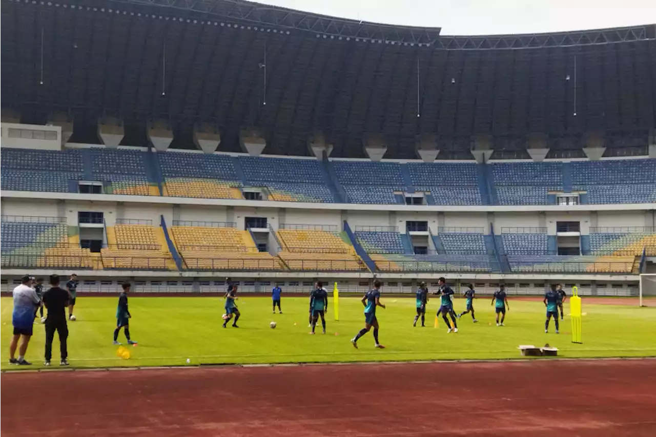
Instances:
[[[281,243],[278,256],[290,270],[359,271],[367,267],[333,226],[285,225],[277,232]]]

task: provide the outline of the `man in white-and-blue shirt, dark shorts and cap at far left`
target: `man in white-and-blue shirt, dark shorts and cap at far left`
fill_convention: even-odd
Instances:
[[[28,344],[32,336],[34,325],[34,312],[39,307],[39,297],[35,289],[31,287],[32,279],[29,275],[23,276],[21,284],[14,288],[14,312],[12,313],[12,324],[14,325],[14,336],[9,344],[9,364],[30,365],[25,360]],[[20,347],[18,340],[20,339]],[[16,348],[18,348],[18,359],[16,359]]]

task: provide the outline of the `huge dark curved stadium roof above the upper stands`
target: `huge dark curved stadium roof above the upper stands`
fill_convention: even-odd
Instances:
[[[239,151],[254,128],[269,154],[309,154],[316,133],[332,156],[364,157],[377,138],[385,157],[415,158],[420,136],[443,158],[470,158],[472,141],[527,157],[538,136],[574,157],[590,133],[606,154],[644,154],[655,37],[455,37],[236,0],[0,0],[0,107],[32,123],[64,112],[85,138],[102,117],[134,142],[163,121],[177,147],[202,125]]]

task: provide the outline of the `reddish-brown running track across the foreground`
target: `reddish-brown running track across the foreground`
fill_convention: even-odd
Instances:
[[[656,360],[0,374],[0,436],[656,436]]]

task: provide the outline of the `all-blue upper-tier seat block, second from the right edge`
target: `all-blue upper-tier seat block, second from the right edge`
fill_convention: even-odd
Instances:
[[[563,190],[562,163],[492,163],[499,205],[546,205],[550,190]]]

